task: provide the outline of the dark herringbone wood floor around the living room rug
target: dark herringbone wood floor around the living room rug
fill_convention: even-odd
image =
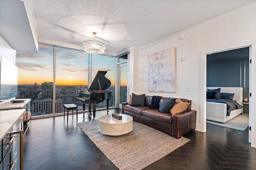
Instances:
[[[120,113],[110,110],[109,113]],[[96,119],[106,111],[97,111]],[[78,114],[78,122],[91,116]],[[193,131],[191,139],[146,170],[256,170],[256,148],[248,143],[248,128],[237,131],[207,124],[207,132]],[[161,140],[161,139],[159,139]],[[120,158],[122,159],[122,158]],[[32,119],[24,135],[24,170],[118,170],[76,125],[63,116]]]

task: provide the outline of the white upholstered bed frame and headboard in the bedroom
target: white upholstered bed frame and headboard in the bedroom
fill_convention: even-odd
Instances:
[[[239,105],[243,105],[243,88],[242,87],[207,87],[206,89],[218,89],[221,93],[234,94],[233,100]],[[243,108],[234,109],[227,115],[227,104],[206,101],[206,119],[225,123],[243,112]]]

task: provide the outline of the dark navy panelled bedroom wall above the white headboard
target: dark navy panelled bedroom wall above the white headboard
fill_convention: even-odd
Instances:
[[[249,99],[249,47],[206,56],[206,87],[242,87]]]

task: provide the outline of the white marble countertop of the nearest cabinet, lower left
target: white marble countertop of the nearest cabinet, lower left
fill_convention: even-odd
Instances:
[[[13,125],[20,121],[23,121],[23,112],[26,109],[13,109],[13,110],[1,110],[0,111],[0,140],[4,136],[12,131]]]

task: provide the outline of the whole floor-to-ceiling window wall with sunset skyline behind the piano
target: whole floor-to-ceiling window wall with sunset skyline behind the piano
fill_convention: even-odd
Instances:
[[[17,98],[31,98],[32,116],[63,113],[63,104],[70,103],[82,110],[82,103],[75,100],[75,96],[80,90],[88,89],[88,56],[84,51],[41,43],[38,53],[17,51]],[[106,78],[111,81],[111,86],[106,90],[112,91],[109,107],[115,107],[115,57],[92,55],[91,63],[91,80],[98,70],[108,71]],[[105,107],[106,100],[97,104],[97,108]]]

